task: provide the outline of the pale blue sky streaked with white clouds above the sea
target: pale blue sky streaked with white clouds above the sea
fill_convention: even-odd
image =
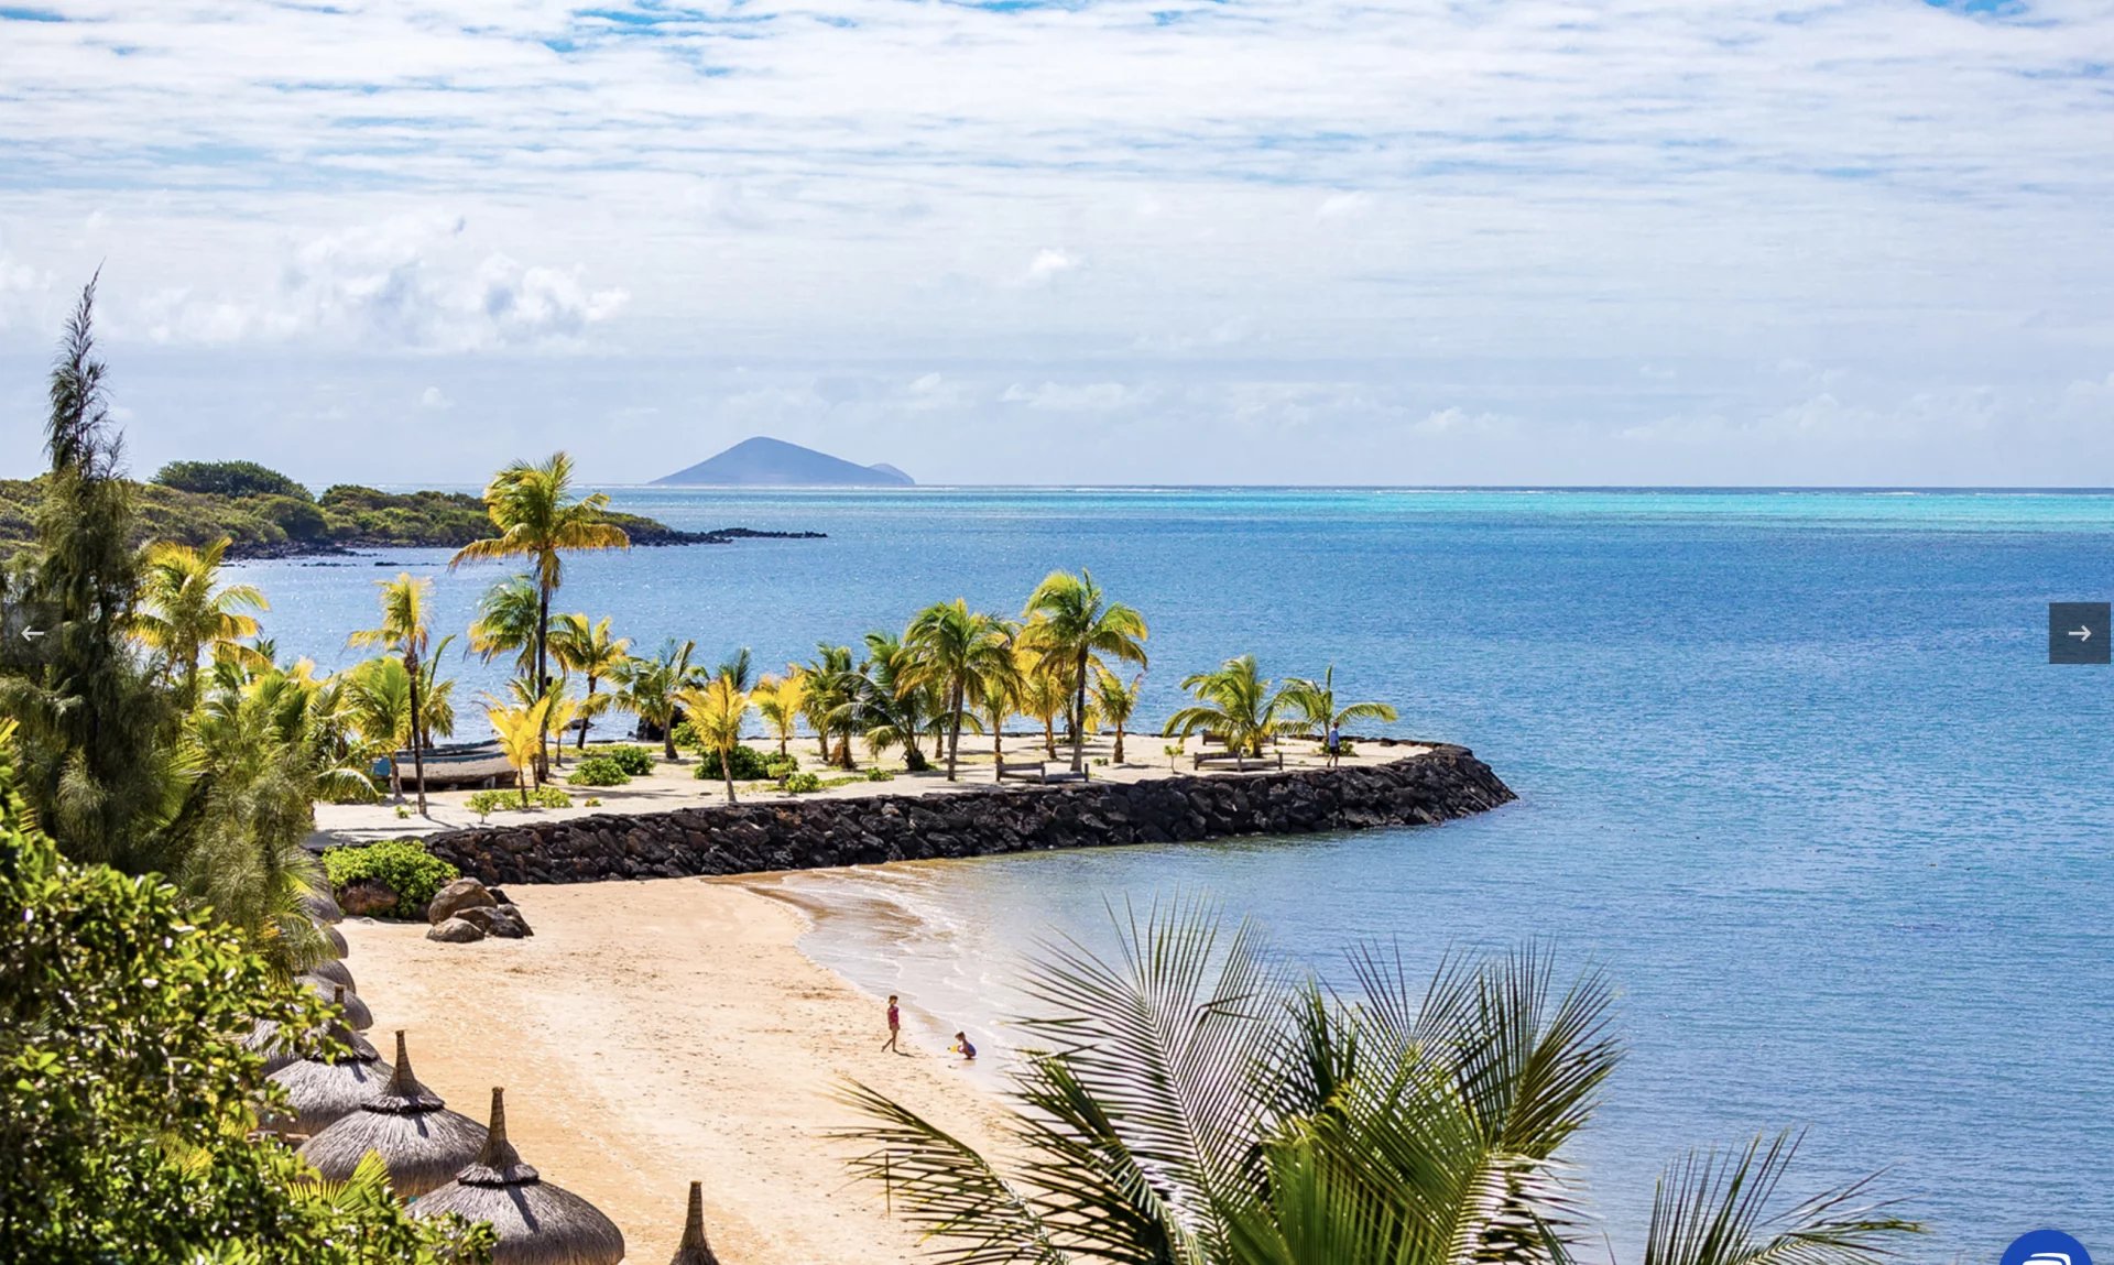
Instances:
[[[0,0],[0,476],[2106,487],[2110,228],[2103,0]]]

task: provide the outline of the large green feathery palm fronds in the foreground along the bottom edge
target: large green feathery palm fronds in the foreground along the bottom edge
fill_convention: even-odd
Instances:
[[[1535,948],[1444,962],[1351,954],[1357,1001],[1199,905],[1116,918],[1118,952],[1053,948],[1013,1072],[1002,1168],[852,1085],[882,1187],[947,1265],[1562,1265],[1588,1244],[1569,1142],[1621,1047],[1613,986],[1556,988]],[[1784,1208],[1795,1142],[1689,1157],[1659,1185],[1651,1265],[1881,1265],[1917,1233],[1871,1180]]]

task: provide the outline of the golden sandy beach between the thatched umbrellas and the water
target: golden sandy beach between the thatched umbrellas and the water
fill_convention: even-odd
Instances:
[[[729,1263],[917,1259],[846,1185],[824,1134],[854,1117],[831,1089],[856,1077],[970,1138],[989,1138],[991,1100],[934,1051],[877,1053],[879,1003],[799,952],[797,910],[698,878],[509,895],[533,939],[345,922],[376,1045],[406,1028],[419,1079],[478,1119],[505,1085],[522,1157],[624,1227],[632,1263],[674,1250],[693,1178]]]

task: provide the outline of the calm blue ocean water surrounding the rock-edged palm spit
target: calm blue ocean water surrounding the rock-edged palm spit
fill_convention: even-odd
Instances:
[[[1338,664],[1404,734],[1473,747],[1522,802],[1425,831],[1125,848],[816,878],[869,916],[810,950],[939,1022],[989,1028],[1013,950],[1104,901],[1209,891],[1336,971],[1554,941],[1621,984],[1630,1060],[1579,1155],[1634,1257],[1662,1163],[1810,1128],[1807,1178],[1890,1166],[1936,1233],[1994,1259],[2114,1229],[2114,671],[2044,662],[2044,603],[2114,597],[2114,495],[1624,491],[632,489],[683,527],[827,542],[569,563],[560,605],[641,647],[761,664],[1019,605],[1091,567],[1152,622],[1144,713],[1256,652]],[[381,569],[374,563],[391,569]],[[438,552],[258,563],[281,649],[338,647],[393,567],[461,626],[493,571]],[[465,666],[474,692],[476,664]],[[1156,751],[1156,742],[1146,742]]]

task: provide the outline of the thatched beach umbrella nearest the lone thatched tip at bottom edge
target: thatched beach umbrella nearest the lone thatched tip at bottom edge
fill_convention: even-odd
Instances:
[[[624,1231],[571,1191],[543,1182],[507,1142],[505,1089],[493,1089],[484,1151],[455,1180],[410,1206],[412,1216],[459,1212],[490,1221],[493,1265],[617,1265]]]

